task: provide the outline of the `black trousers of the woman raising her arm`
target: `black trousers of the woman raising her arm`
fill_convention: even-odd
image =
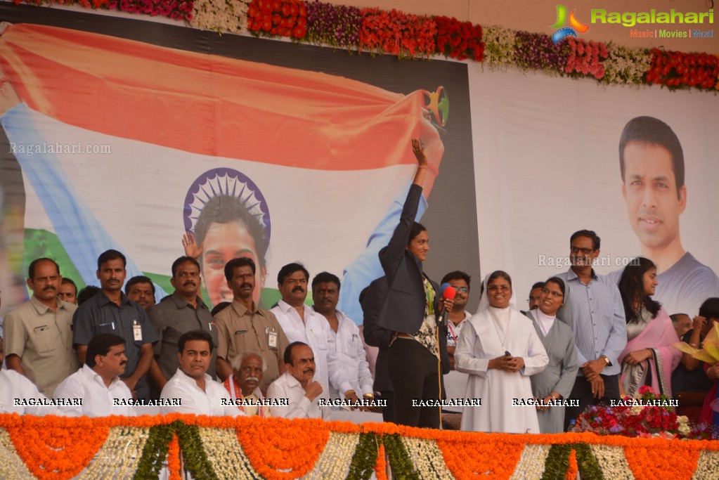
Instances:
[[[394,393],[394,422],[411,427],[439,428],[441,407],[419,406],[414,402],[441,398],[439,361],[416,340],[397,338],[389,349],[388,364]]]

